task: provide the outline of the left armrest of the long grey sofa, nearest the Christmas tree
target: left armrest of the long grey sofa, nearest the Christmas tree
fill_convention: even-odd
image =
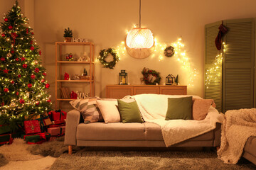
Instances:
[[[67,113],[64,145],[76,145],[76,134],[79,123],[80,112],[75,109],[69,111]]]

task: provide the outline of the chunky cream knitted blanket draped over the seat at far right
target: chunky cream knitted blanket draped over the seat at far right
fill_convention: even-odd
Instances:
[[[226,164],[238,163],[245,143],[251,136],[256,136],[256,108],[227,111],[218,158]]]

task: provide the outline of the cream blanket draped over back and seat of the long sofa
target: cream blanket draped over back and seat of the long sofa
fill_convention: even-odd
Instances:
[[[209,132],[216,128],[216,123],[223,122],[223,114],[218,113],[213,107],[210,107],[204,120],[165,120],[168,98],[184,96],[191,95],[139,94],[132,96],[137,101],[143,119],[160,125],[166,147]],[[193,96],[193,98],[201,97]]]

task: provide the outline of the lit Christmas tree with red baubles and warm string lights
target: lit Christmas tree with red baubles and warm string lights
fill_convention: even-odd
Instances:
[[[18,1],[5,14],[0,36],[0,125],[14,131],[32,115],[50,111],[49,84],[38,45]]]

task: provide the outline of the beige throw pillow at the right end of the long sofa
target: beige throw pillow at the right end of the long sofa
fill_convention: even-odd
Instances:
[[[193,120],[205,119],[210,106],[213,106],[215,108],[215,103],[213,99],[193,98],[192,102],[193,102],[193,108],[192,108]]]

